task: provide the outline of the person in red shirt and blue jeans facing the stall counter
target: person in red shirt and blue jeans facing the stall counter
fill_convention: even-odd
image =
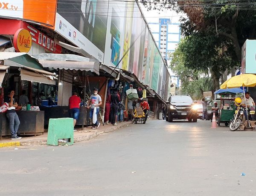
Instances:
[[[74,119],[74,127],[76,125],[76,121],[78,120],[79,111],[80,111],[80,103],[81,99],[77,96],[77,93],[74,92],[73,95],[69,98],[69,107],[70,107],[70,116]]]

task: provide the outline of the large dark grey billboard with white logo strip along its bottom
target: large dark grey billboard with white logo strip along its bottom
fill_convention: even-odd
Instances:
[[[58,0],[55,31],[103,61],[107,16],[106,0]]]

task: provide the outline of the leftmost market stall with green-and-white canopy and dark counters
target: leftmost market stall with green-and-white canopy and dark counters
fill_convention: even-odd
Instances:
[[[30,110],[23,107],[17,111],[20,119],[19,132],[26,135],[44,133],[44,111],[34,107],[38,105],[40,87],[55,88],[57,77],[46,71],[42,65],[26,53],[0,52],[0,102],[9,102],[9,92],[15,91],[15,101],[20,102],[21,92],[25,91],[29,99]],[[9,122],[6,113],[0,113],[0,136],[8,136]]]

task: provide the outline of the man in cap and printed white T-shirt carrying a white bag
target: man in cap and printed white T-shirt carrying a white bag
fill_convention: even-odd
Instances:
[[[96,115],[99,114],[99,106],[102,105],[102,98],[98,95],[98,89],[93,88],[93,94],[90,96],[87,108],[90,108],[90,119],[93,119],[93,111],[96,108]],[[100,122],[98,120],[93,124],[93,129],[99,128]]]

